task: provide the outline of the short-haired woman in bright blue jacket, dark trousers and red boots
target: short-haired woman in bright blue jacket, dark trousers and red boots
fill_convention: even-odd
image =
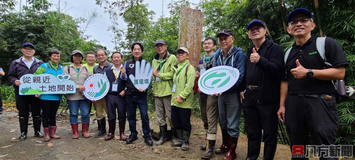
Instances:
[[[61,52],[59,50],[50,50],[48,57],[50,61],[40,65],[34,75],[48,73],[54,76],[62,74],[63,66],[59,65]],[[44,130],[44,141],[49,141],[50,138],[59,139],[60,137],[55,135],[56,124],[55,114],[58,111],[60,100],[62,95],[50,94],[50,95],[36,95],[39,97],[39,106],[42,108],[42,126]]]

